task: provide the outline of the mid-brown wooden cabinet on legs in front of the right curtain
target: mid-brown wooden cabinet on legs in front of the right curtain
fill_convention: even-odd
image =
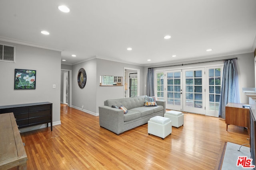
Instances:
[[[247,127],[250,135],[249,116],[250,109],[243,108],[243,104],[228,103],[226,105],[226,131],[228,131],[228,125],[236,125]]]

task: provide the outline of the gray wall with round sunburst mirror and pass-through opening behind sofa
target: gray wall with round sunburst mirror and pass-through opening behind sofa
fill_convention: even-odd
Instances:
[[[103,59],[92,59],[72,67],[72,107],[98,115],[98,107],[104,105],[104,100],[124,98],[124,86],[100,86],[100,75],[124,76],[124,67],[140,69],[140,95],[143,92],[143,67],[126,63],[118,63]],[[77,74],[84,68],[87,74],[86,86],[80,89],[77,84]]]

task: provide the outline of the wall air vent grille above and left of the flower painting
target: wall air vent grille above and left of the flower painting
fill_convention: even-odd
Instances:
[[[15,63],[15,46],[0,44],[0,61]]]

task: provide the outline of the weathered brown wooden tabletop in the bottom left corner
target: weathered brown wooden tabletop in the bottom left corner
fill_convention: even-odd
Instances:
[[[13,113],[0,114],[0,170],[27,169],[27,154]]]

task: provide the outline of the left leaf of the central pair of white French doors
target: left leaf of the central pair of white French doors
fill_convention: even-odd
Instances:
[[[166,71],[165,77],[166,87],[164,96],[166,96],[166,108],[182,111],[182,71]]]

